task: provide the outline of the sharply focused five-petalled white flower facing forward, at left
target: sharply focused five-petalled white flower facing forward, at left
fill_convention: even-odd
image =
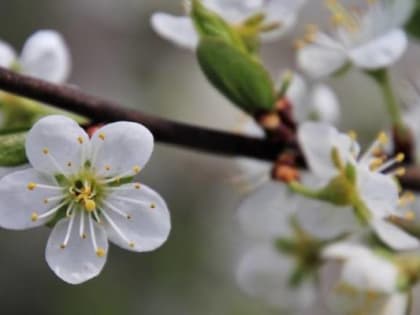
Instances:
[[[71,284],[100,273],[108,240],[136,252],[158,248],[170,231],[167,206],[152,189],[130,183],[152,149],[152,134],[137,123],[112,123],[89,139],[69,118],[41,119],[26,140],[33,168],[0,180],[0,226],[24,230],[57,221],[46,260]]]

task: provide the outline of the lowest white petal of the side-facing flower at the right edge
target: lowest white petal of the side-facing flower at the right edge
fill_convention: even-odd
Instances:
[[[376,219],[371,225],[379,238],[394,250],[412,250],[420,246],[417,238],[385,220]]]

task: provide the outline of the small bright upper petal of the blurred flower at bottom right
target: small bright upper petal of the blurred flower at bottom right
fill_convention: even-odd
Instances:
[[[358,259],[369,255],[371,252],[366,247],[346,241],[328,245],[322,251],[322,257],[337,260]]]

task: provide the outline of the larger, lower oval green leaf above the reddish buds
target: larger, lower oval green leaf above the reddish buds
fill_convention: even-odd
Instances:
[[[241,109],[251,114],[273,109],[276,97],[271,77],[251,56],[224,40],[205,37],[197,58],[214,87]]]

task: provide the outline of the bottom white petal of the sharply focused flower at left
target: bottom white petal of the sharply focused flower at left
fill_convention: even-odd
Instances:
[[[48,239],[45,258],[50,268],[62,280],[70,284],[80,284],[96,277],[106,262],[108,252],[108,241],[102,227],[94,223],[95,239],[98,248],[101,248],[105,256],[99,257],[92,243],[92,234],[85,226],[86,238],[79,235],[78,214],[70,234],[67,246],[63,249],[66,233],[68,231],[68,218],[60,220],[51,232]]]

